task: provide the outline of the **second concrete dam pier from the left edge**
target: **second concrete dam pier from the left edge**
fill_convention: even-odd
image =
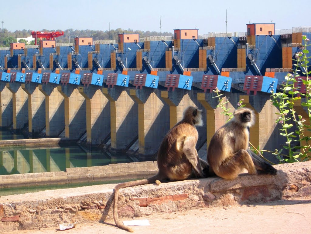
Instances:
[[[13,130],[19,130],[28,123],[28,94],[22,89],[22,83],[7,83],[12,92]]]

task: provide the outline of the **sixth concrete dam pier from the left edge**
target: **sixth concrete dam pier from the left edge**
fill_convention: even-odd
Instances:
[[[110,104],[99,86],[79,87],[86,100],[86,142],[98,145],[110,135]]]

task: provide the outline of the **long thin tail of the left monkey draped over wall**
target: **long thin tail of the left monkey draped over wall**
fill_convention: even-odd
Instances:
[[[136,186],[136,185],[144,185],[144,184],[154,183],[154,182],[156,182],[157,179],[158,179],[158,175],[155,175],[154,177],[151,177],[149,179],[125,182],[125,183],[117,184],[116,187],[114,187],[114,222],[116,223],[117,227],[122,228],[124,230],[127,230],[129,232],[134,232],[134,230],[131,227],[124,225],[119,220],[119,216],[118,216],[119,189],[120,188],[132,187],[132,186]]]

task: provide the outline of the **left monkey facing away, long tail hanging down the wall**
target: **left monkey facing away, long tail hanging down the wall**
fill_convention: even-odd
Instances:
[[[133,232],[133,229],[120,222],[118,217],[118,194],[120,188],[132,187],[161,180],[185,180],[192,176],[205,177],[207,163],[200,159],[195,148],[198,132],[195,126],[202,126],[202,110],[189,106],[183,112],[183,119],[165,135],[157,154],[158,173],[149,178],[118,184],[114,188],[114,221],[119,228]]]

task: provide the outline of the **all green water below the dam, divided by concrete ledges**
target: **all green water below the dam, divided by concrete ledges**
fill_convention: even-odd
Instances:
[[[0,131],[0,136],[2,140],[24,139],[23,135],[13,135],[9,131]],[[129,162],[133,161],[126,154],[113,154],[99,148],[85,149],[78,145],[49,148],[0,148],[0,175],[58,172],[66,171],[66,168],[104,166]],[[0,196],[119,182],[123,181],[114,180],[1,188]]]

